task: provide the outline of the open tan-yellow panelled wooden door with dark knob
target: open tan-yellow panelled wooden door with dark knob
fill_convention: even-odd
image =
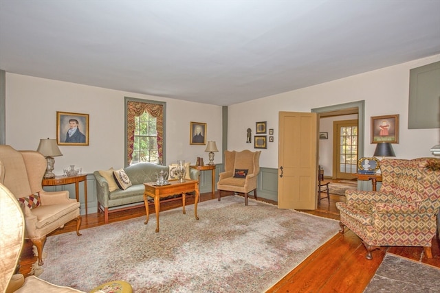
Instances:
[[[315,209],[318,157],[318,115],[278,115],[278,208]]]

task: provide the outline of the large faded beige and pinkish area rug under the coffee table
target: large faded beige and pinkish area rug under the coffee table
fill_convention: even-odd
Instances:
[[[41,279],[88,291],[264,292],[338,233],[336,220],[228,196],[155,216],[47,237]]]

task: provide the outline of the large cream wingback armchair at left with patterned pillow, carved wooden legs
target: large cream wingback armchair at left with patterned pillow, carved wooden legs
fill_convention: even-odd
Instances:
[[[5,185],[17,200],[25,204],[25,239],[30,239],[43,265],[43,247],[46,235],[76,220],[79,233],[80,203],[69,198],[69,191],[46,192],[41,186],[46,170],[46,159],[36,151],[17,151],[10,145],[0,145],[0,183]],[[33,200],[33,202],[32,202]]]

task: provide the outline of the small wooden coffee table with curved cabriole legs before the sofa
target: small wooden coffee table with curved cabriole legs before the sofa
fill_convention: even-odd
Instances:
[[[199,202],[199,181],[198,180],[185,180],[184,183],[179,183],[179,180],[170,181],[169,185],[155,185],[155,183],[144,183],[144,204],[146,211],[146,220],[144,224],[148,224],[149,211],[148,211],[148,197],[154,199],[154,209],[156,213],[156,233],[159,232],[159,208],[160,198],[166,198],[167,196],[174,196],[175,194],[181,194],[181,200],[183,205],[183,213],[185,212],[185,196],[188,192],[195,191],[194,200],[194,216],[195,220],[199,220],[197,217],[197,202]]]

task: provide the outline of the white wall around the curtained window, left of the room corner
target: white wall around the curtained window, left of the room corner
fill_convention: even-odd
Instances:
[[[6,73],[6,144],[36,150],[40,139],[56,138],[56,111],[89,114],[89,145],[60,145],[54,173],[76,165],[84,173],[124,167],[124,97],[166,102],[166,163],[208,162],[206,145],[190,145],[190,121],[207,124],[207,141],[221,150],[221,106]],[[215,156],[221,163],[221,156]]]

